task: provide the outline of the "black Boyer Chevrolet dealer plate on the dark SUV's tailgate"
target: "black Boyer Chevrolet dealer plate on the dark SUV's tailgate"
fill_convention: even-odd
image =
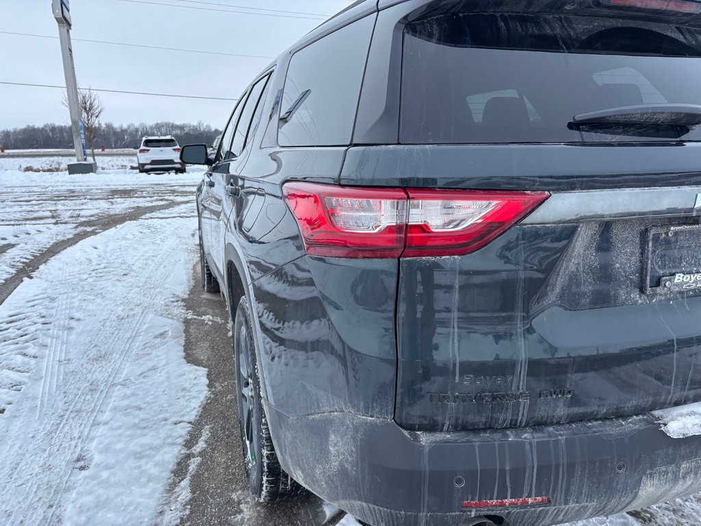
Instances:
[[[653,227],[646,251],[646,294],[701,292],[700,224]]]

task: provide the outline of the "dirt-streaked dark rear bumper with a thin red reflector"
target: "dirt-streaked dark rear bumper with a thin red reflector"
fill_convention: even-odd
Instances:
[[[283,468],[373,526],[468,525],[497,515],[547,526],[701,491],[701,437],[674,439],[649,415],[500,431],[414,433],[346,413],[288,417],[266,405]],[[463,511],[463,501],[550,504]]]

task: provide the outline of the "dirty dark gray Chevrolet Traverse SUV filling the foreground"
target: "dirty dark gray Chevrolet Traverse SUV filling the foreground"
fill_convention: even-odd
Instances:
[[[241,95],[198,187],[245,467],[373,526],[701,491],[701,3],[367,0]]]

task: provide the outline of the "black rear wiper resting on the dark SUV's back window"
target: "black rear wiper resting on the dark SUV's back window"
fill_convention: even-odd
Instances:
[[[678,139],[701,124],[698,104],[639,104],[575,115],[570,130]]]

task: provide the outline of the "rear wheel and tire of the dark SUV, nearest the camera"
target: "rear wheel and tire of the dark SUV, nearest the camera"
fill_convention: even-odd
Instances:
[[[243,466],[248,485],[260,502],[275,502],[302,491],[283,471],[275,453],[261,400],[253,329],[246,297],[236,309],[233,349],[236,356],[236,398],[241,433]]]

